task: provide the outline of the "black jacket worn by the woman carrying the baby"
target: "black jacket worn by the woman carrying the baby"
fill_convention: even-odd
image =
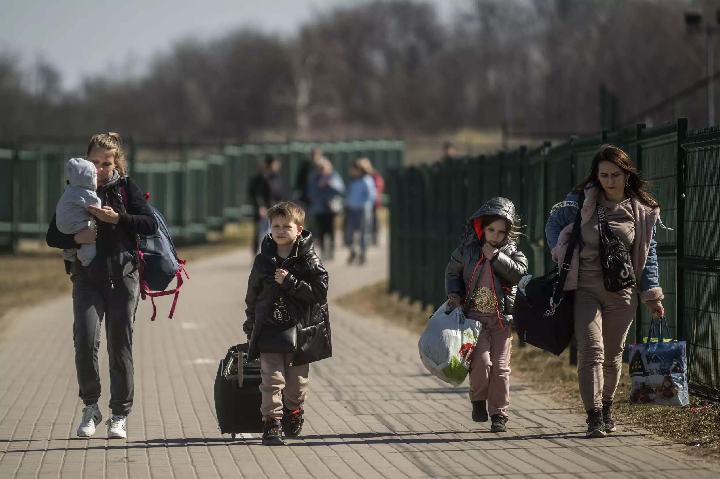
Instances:
[[[127,209],[122,201],[120,186],[127,196]],[[150,210],[143,193],[130,176],[121,177],[117,170],[98,187],[97,194],[103,206],[112,207],[119,213],[117,225],[97,222],[97,254],[89,265],[91,277],[96,280],[118,279],[138,269],[138,243],[135,235],[152,235],[158,228],[153,210]],[[55,215],[48,225],[45,241],[51,248],[77,248],[74,235],[60,233],[55,224]],[[70,274],[70,261],[66,261],[66,272]]]

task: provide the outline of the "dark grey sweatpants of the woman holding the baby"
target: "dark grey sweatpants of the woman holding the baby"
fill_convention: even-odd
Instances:
[[[97,352],[100,349],[100,323],[105,320],[105,341],[110,367],[110,409],[117,416],[127,416],[135,393],[132,364],[132,327],[140,297],[138,272],[114,279],[97,281],[88,270],[73,261],[73,341],[75,369],[78,373],[80,398],[86,406],[100,398],[100,372]]]

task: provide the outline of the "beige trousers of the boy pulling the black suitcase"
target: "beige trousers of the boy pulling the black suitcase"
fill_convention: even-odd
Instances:
[[[302,408],[307,396],[310,364],[291,366],[293,354],[260,353],[260,412],[264,417],[282,418],[282,400],[290,411]]]

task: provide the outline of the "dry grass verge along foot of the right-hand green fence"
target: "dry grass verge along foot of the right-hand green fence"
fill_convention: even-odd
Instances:
[[[432,315],[431,308],[410,303],[397,293],[387,293],[387,281],[377,282],[350,292],[336,300],[338,305],[359,314],[386,318],[412,331],[425,328]],[[532,388],[549,394],[579,414],[582,401],[577,389],[577,368],[570,366],[567,351],[559,357],[533,346],[518,346],[513,336],[513,377]],[[690,396],[690,405],[684,408],[669,406],[630,406],[630,380],[627,366],[623,365],[622,377],[613,418],[616,424],[630,424],[665,437],[669,442],[682,444],[683,452],[713,462],[720,462],[720,404]]]

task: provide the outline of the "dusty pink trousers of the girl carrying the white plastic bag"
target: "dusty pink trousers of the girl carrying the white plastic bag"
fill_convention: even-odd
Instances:
[[[502,414],[507,420],[512,331],[510,326],[500,326],[497,315],[470,312],[467,317],[482,323],[470,361],[470,400],[487,400],[487,413]]]

